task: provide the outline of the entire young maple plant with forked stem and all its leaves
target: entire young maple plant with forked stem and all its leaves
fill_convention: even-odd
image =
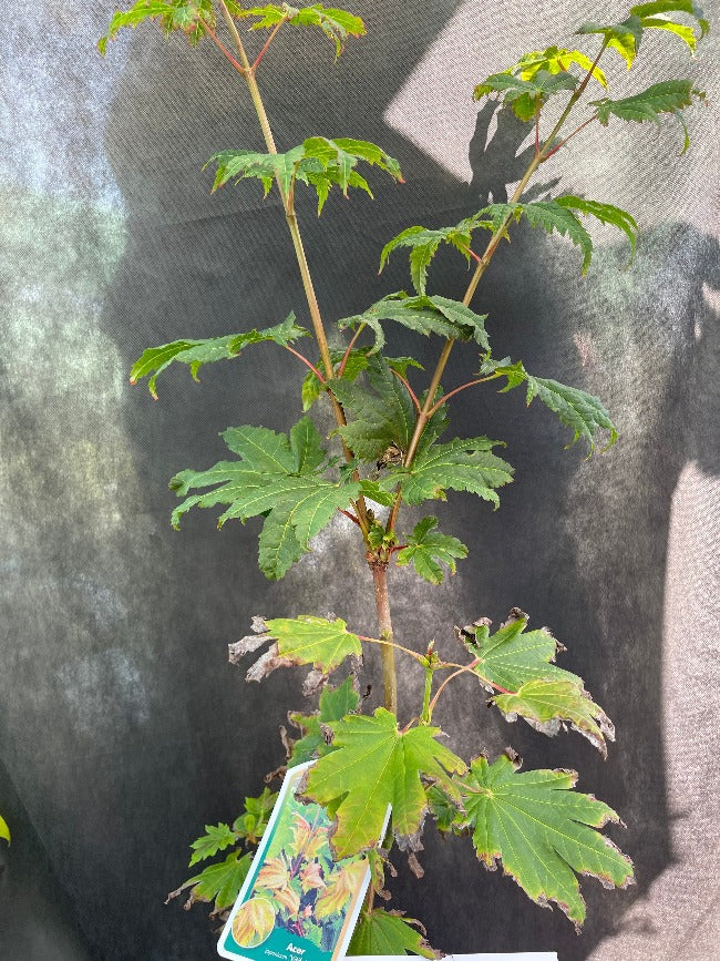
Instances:
[[[453,436],[450,412],[461,393],[463,401],[467,397],[464,391],[494,390],[497,403],[507,402],[508,392],[523,392],[528,406],[547,408],[546,416],[557,418],[567,431],[568,447],[579,442],[587,457],[616,442],[613,417],[600,399],[546,377],[543,370],[528,370],[520,357],[493,352],[495,325],[503,318],[477,313],[473,298],[485,272],[492,270],[494,253],[513,241],[521,223],[569,241],[564,245],[568,269],[577,274],[593,269],[596,225],[616,228],[631,260],[638,229],[634,213],[605,197],[555,194],[557,181],[548,184],[535,175],[558,152],[574,161],[582,157],[564,147],[570,141],[573,146],[582,143],[592,124],[607,127],[611,137],[623,124],[665,127],[667,121],[672,124],[669,150],[687,150],[685,112],[703,99],[702,92],[677,78],[632,85],[635,73],[627,71],[658,43],[685,44],[693,55],[708,31],[702,11],[690,0],[640,3],[621,22],[579,25],[577,49],[552,45],[518,59],[508,50],[507,61],[514,62],[507,69],[485,78],[479,69],[469,99],[474,95],[484,104],[490,99],[498,116],[512,114],[514,123],[525,125],[527,165],[514,193],[507,202],[494,195],[493,203],[456,224],[411,223],[394,237],[378,237],[379,269],[405,258],[409,289],[391,292],[344,317],[330,316],[316,296],[315,257],[311,251],[306,254],[302,243],[297,197],[309,193],[313,205],[317,201],[318,216],[339,219],[347,208],[327,205],[331,194],[351,198],[361,191],[372,197],[381,178],[402,191],[400,163],[381,145],[347,136],[346,130],[312,130],[299,144],[276,144],[260,84],[270,58],[289,49],[274,44],[278,35],[291,44],[294,31],[302,29],[320,45],[329,41],[327,63],[323,50],[318,50],[317,69],[331,70],[333,55],[340,57],[350,42],[362,43],[362,20],[319,3],[246,7],[235,0],[140,0],[115,13],[99,43],[101,52],[122,28],[145,20],[168,34],[182,31],[193,44],[213,44],[247,86],[265,151],[230,144],[207,161],[207,186],[212,192],[259,187],[261,194],[279,197],[306,299],[287,317],[277,316],[268,303],[261,324],[240,319],[223,337],[192,339],[191,330],[188,339],[147,348],[134,364],[132,382],[146,379],[157,398],[158,378],[178,365],[189,367],[197,380],[200,368],[219,361],[232,361],[241,377],[243,365],[254,362],[246,352],[256,345],[297,359],[297,399],[286,401],[297,409],[295,423],[286,432],[260,425],[224,430],[223,460],[195,464],[171,480],[178,498],[172,523],[182,528],[196,508],[207,509],[218,528],[253,521],[259,531],[259,568],[276,581],[342,515],[343,522],[352,523],[356,550],[369,568],[367,582],[352,589],[367,589],[367,604],[377,615],[374,636],[367,636],[342,611],[328,615],[320,595],[315,613],[257,616],[250,633],[230,645],[233,663],[250,658],[248,681],[272,685],[267,678],[274,672],[298,668],[306,672],[304,693],[317,699],[290,710],[295,735],[282,728],[286,756],[278,758],[280,767],[274,773],[315,761],[300,789],[307,818],[297,811],[292,819],[288,816],[292,840],[270,848],[271,860],[264,862],[254,882],[260,894],[247,901],[233,922],[236,940],[255,947],[279,924],[290,957],[305,953],[297,938],[309,938],[317,947],[331,943],[353,890],[351,881],[358,880],[360,869],[352,859],[362,855],[371,881],[350,953],[435,957],[419,921],[381,906],[390,898],[385,875],[394,873],[398,851],[420,877],[423,831],[435,828],[462,836],[482,865],[502,867],[529,898],[559,907],[579,930],[586,916],[580,878],[583,885],[594,878],[615,888],[634,880],[630,858],[615,844],[617,831],[613,839],[603,834],[606,825],[619,822],[619,815],[593,795],[577,791],[573,770],[525,769],[512,748],[493,758],[482,742],[463,744],[455,753],[450,745],[456,742],[443,736],[434,717],[439,702],[453,698],[453,682],[472,678],[473,708],[487,703],[508,720],[524,718],[547,735],[575,732],[606,757],[608,742],[615,739],[610,718],[582,677],[556,664],[573,638],[559,643],[549,627],[534,622],[532,612],[514,607],[500,626],[484,616],[485,611],[477,611],[477,618],[466,626],[448,624],[435,646],[393,624],[388,575],[394,565],[414,569],[424,597],[428,585],[455,573],[472,549],[454,532],[440,529],[432,502],[465,492],[485,501],[487,511],[497,510],[503,488],[513,480],[523,483],[506,459],[503,440],[485,436],[482,425],[473,436]],[[629,94],[614,92],[619,80],[621,93],[630,84]],[[270,231],[285,229],[278,211],[275,206],[267,212]],[[360,243],[370,242],[363,236]],[[433,259],[441,252],[467,265],[463,288],[436,289]],[[325,264],[323,269],[332,266]],[[337,283],[342,284],[341,276]],[[241,305],[237,314],[241,318]],[[413,356],[391,355],[388,343],[397,325],[405,328],[409,339],[433,339],[432,369],[425,370]],[[472,365],[464,382],[448,377],[453,350],[465,351]],[[319,405],[331,413],[330,429],[318,413]],[[522,558],[516,561],[522,564]],[[313,572],[308,571],[311,579]],[[362,665],[363,650],[372,646],[381,651],[381,678],[368,676]],[[422,678],[416,702],[398,684],[401,661]],[[376,693],[382,692],[381,706],[361,696],[372,685]],[[210,902],[213,916],[228,918],[275,799],[266,788],[246,799],[232,824],[206,826],[206,834],[193,845],[191,866],[216,860],[171,897],[188,891],[189,903]],[[500,875],[479,872],[479,910],[483,885],[500,883],[506,883]]]

